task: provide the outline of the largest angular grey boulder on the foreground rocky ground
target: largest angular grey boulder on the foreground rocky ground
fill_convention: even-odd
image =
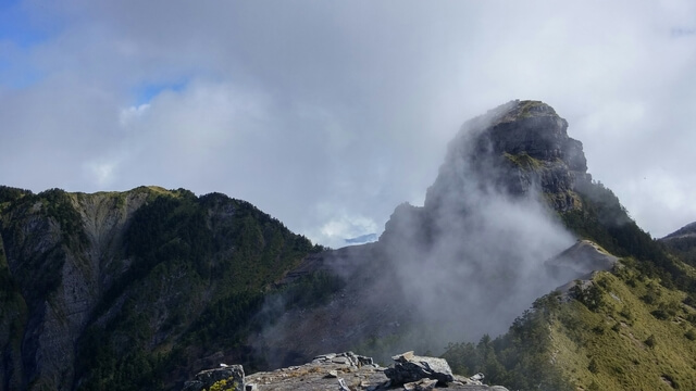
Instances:
[[[406,352],[391,358],[395,361],[394,366],[385,369],[384,375],[395,386],[421,379],[437,380],[440,384],[455,380],[452,370],[444,358],[418,356],[413,352]]]

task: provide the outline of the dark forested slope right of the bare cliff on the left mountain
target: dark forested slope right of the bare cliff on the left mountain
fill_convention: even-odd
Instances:
[[[183,189],[136,211],[124,248],[79,343],[80,389],[163,389],[217,351],[254,365],[244,343],[273,282],[320,249],[248,202]]]

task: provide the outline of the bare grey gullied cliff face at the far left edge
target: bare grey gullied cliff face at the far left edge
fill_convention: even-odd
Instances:
[[[123,270],[123,227],[148,191],[120,195],[27,194],[32,200],[13,204],[3,215],[8,266],[29,311],[22,342],[25,365],[12,371],[11,383],[24,377],[36,379],[36,387],[71,387],[76,341],[101,294]]]

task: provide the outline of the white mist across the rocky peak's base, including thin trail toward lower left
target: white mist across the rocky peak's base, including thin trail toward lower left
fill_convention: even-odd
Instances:
[[[320,255],[345,288],[328,305],[282,313],[260,337],[275,352],[266,358],[291,364],[277,355],[285,349],[297,356],[352,349],[377,360],[407,350],[440,354],[450,342],[506,332],[534,300],[567,282],[544,264],[575,238],[540,184],[523,192],[510,186],[482,137],[506,108],[461,128],[424,205],[397,206],[378,242]]]

